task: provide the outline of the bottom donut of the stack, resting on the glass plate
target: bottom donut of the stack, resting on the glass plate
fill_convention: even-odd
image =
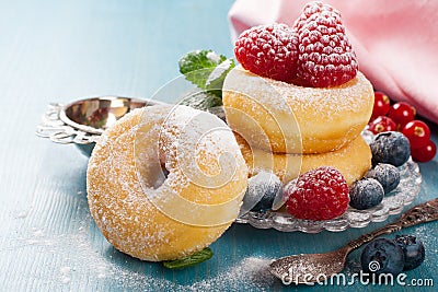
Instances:
[[[332,166],[344,175],[348,185],[351,185],[362,178],[371,167],[371,150],[361,136],[339,150],[302,155],[265,152],[250,148],[240,135],[235,135],[235,138],[250,168],[250,176],[261,171],[270,171],[285,184],[320,166]]]

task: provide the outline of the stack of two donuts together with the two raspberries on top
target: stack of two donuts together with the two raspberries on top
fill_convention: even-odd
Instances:
[[[223,105],[252,175],[267,168],[287,183],[332,166],[348,184],[364,176],[373,89],[336,10],[314,2],[293,27],[252,27],[234,52],[241,66],[227,75]]]

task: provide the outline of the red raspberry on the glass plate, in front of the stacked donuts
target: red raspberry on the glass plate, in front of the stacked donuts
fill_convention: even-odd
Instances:
[[[285,192],[288,197],[286,210],[299,219],[330,220],[342,215],[349,202],[344,176],[330,166],[300,175]]]

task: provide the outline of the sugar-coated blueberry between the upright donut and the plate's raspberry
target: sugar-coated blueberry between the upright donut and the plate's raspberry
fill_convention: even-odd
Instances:
[[[273,208],[276,196],[283,195],[283,183],[273,173],[260,172],[247,180],[241,214],[251,210],[265,212]]]

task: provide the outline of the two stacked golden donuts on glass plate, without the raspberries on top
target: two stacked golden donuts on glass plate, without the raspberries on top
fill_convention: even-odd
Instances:
[[[371,166],[360,136],[373,91],[359,72],[335,87],[303,87],[233,69],[223,84],[227,122],[250,175],[270,170],[287,183],[319,166],[337,168],[348,184]]]

